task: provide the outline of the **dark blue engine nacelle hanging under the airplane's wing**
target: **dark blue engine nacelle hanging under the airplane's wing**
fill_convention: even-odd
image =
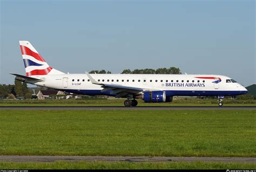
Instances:
[[[159,103],[165,102],[165,91],[144,91],[143,100],[145,103]]]

